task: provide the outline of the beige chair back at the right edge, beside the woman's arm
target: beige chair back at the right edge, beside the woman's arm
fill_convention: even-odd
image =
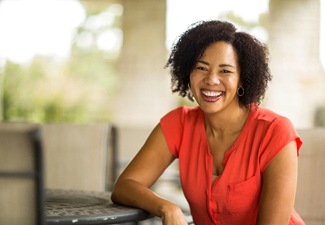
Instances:
[[[325,224],[325,128],[298,130],[303,140],[295,209],[308,225]]]

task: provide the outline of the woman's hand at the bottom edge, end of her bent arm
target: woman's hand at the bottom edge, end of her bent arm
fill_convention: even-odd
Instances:
[[[176,205],[163,206],[161,210],[163,225],[187,225],[187,221],[182,210]]]

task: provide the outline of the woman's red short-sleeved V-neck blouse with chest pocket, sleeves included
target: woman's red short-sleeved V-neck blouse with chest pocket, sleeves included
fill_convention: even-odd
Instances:
[[[160,125],[172,154],[179,158],[180,179],[196,225],[256,223],[262,174],[290,141],[302,144],[285,117],[253,105],[246,124],[224,156],[224,171],[212,183],[212,155],[199,107],[180,107]],[[304,224],[293,211],[289,224]]]

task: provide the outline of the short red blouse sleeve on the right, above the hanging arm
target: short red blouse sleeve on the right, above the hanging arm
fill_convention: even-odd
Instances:
[[[302,140],[298,136],[291,121],[286,117],[277,117],[274,119],[265,133],[260,148],[260,165],[262,172],[275,156],[291,141],[296,142],[297,156],[299,156]]]

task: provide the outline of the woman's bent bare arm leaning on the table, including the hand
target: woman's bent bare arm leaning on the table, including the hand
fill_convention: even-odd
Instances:
[[[115,203],[133,206],[161,217],[164,224],[187,224],[182,210],[149,188],[173,162],[160,125],[118,178],[112,192]]]

